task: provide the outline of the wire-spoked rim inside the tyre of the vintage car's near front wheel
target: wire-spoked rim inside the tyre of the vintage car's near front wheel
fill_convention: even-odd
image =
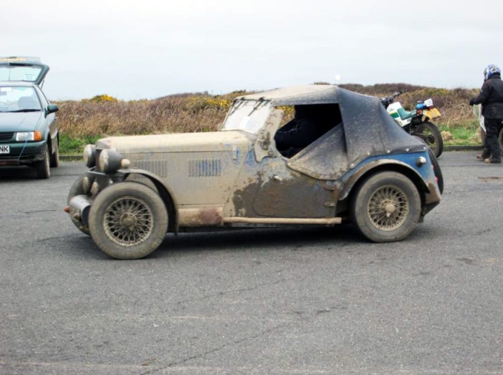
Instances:
[[[138,197],[120,197],[105,209],[103,228],[108,238],[118,245],[139,245],[152,232],[152,211]]]

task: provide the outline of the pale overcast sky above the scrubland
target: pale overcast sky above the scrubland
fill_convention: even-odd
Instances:
[[[51,100],[314,81],[479,87],[503,65],[503,2],[4,1],[3,56],[51,67]]]

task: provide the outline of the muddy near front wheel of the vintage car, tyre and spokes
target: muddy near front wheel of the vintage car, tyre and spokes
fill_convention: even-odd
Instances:
[[[89,213],[89,230],[112,258],[139,259],[152,253],[167,231],[164,202],[135,182],[110,185],[98,194]]]

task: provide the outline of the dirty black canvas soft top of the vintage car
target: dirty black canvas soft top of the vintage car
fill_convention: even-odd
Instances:
[[[339,104],[342,126],[336,126],[288,161],[290,168],[320,179],[338,179],[373,155],[424,151],[425,144],[403,131],[377,97],[336,85],[305,85],[240,96],[267,100],[273,106]]]

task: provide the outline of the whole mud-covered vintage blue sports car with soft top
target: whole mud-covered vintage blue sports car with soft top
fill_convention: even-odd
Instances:
[[[275,139],[292,108],[323,110],[325,130],[287,155]],[[218,132],[105,138],[85,160],[66,210],[121,259],[146,256],[167,231],[203,228],[353,221],[371,240],[401,240],[441,194],[427,147],[377,98],[333,85],[238,97]]]

